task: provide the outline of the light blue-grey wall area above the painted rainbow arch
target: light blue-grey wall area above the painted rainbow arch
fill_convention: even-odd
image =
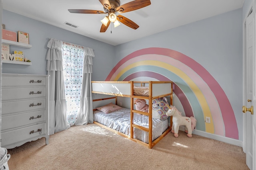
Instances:
[[[242,140],[242,12],[240,8],[118,45],[115,61],[149,47],[172,49],[194,59],[224,90]]]

